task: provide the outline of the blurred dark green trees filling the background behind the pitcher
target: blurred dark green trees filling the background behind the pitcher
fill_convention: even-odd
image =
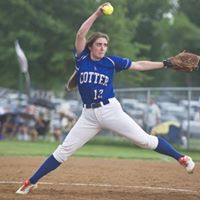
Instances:
[[[0,86],[18,88],[18,40],[33,88],[62,90],[74,70],[76,31],[102,0],[1,0]],[[110,0],[111,16],[92,31],[107,33],[108,54],[160,61],[183,50],[200,54],[199,0]],[[199,86],[200,72],[172,70],[119,73],[116,87]]]

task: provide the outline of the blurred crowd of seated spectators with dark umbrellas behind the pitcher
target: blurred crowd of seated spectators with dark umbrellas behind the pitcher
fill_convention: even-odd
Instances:
[[[60,107],[44,98],[20,102],[13,105],[7,99],[0,105],[0,139],[62,141],[77,118],[70,105]]]

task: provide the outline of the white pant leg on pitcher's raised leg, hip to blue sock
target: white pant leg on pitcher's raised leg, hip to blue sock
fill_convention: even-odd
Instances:
[[[158,146],[158,138],[147,134],[123,111],[115,98],[102,111],[102,120],[105,128],[129,138],[140,147],[156,149]]]

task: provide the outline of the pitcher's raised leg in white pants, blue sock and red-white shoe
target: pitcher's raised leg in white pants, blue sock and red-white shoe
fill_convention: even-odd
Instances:
[[[182,165],[189,163],[188,168],[186,169],[189,173],[193,171],[194,163],[190,157],[185,157],[163,138],[147,134],[122,110],[119,103],[113,103],[111,106],[113,108],[105,110],[104,113],[107,116],[106,120],[103,121],[106,128],[131,139],[140,147],[153,149],[161,154],[171,156],[178,160]]]

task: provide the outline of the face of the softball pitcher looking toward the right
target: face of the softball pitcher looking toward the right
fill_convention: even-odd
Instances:
[[[103,58],[107,52],[108,49],[108,41],[106,38],[98,38],[95,40],[95,42],[92,44],[90,49],[90,56],[93,60],[100,60]]]

